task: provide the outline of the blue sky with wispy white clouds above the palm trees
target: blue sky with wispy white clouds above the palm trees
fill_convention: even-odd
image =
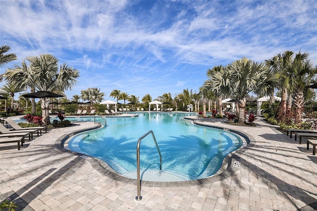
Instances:
[[[317,64],[317,0],[1,0],[0,45],[21,64],[51,53],[77,68],[68,99],[97,87],[113,100],[198,92],[208,68],[309,52]],[[3,73],[5,68],[0,69]]]

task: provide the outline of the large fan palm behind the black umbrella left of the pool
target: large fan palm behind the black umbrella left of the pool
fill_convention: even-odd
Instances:
[[[34,88],[37,91],[50,91],[62,93],[71,89],[77,82],[79,71],[63,63],[58,67],[58,58],[51,54],[40,54],[39,56],[28,56],[29,67],[22,62],[22,67],[18,71],[8,72],[7,79],[20,84],[23,88]],[[25,73],[25,74],[23,74]],[[24,81],[25,80],[25,81]],[[31,90],[32,92],[32,90]],[[41,99],[43,121],[50,124],[48,112],[49,103],[46,99]]]

